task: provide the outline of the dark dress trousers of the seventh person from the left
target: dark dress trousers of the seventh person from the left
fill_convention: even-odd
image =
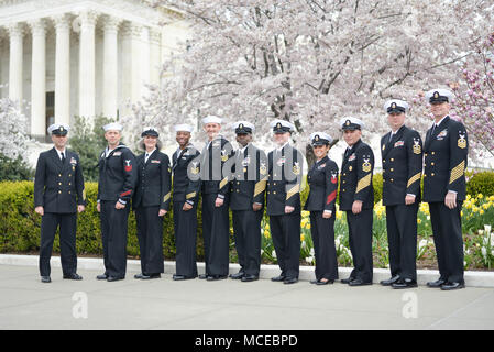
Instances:
[[[284,216],[270,216],[271,235],[282,276],[298,278],[300,261],[299,211]]]

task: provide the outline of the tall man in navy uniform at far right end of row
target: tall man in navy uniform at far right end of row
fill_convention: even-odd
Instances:
[[[424,201],[429,202],[440,274],[427,285],[444,290],[464,287],[461,207],[466,196],[469,142],[463,123],[448,114],[451,98],[447,89],[426,94],[435,123],[424,143]]]

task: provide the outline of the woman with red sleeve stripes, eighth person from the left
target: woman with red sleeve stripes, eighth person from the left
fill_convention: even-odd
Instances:
[[[307,174],[310,191],[304,206],[310,211],[310,233],[316,256],[316,279],[311,284],[332,284],[338,278],[338,257],[334,248],[336,199],[338,165],[328,157],[332,139],[325,132],[310,134],[317,161]]]

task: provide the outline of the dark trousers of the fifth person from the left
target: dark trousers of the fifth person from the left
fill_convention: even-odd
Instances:
[[[207,275],[227,276],[230,260],[229,197],[216,207],[217,194],[202,195],[202,234]]]

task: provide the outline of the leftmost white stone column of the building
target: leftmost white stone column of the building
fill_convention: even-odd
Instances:
[[[9,63],[9,98],[22,107],[22,65],[23,65],[23,28],[20,23],[9,25],[10,63]]]

